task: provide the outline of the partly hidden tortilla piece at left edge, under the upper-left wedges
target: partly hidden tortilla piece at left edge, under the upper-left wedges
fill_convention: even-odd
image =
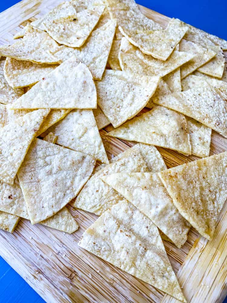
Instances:
[[[13,89],[8,85],[3,72],[4,63],[5,61],[0,61],[0,103],[8,104],[22,96],[24,94],[24,90],[23,88]]]

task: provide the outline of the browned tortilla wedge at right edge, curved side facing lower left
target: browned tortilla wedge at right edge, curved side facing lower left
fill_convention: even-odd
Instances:
[[[159,173],[181,215],[211,239],[227,198],[227,152]]]

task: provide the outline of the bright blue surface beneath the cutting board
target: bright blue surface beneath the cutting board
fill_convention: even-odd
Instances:
[[[63,0],[62,0],[63,1]],[[0,0],[0,12],[19,1]],[[226,0],[136,0],[138,4],[175,17],[227,40]],[[1,244],[0,244],[1,245]],[[44,300],[0,257],[0,303],[44,303]],[[209,303],[209,302],[207,302]],[[227,298],[225,299],[227,303]]]

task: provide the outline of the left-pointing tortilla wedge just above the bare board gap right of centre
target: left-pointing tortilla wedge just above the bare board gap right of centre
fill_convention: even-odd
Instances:
[[[183,115],[162,106],[124,123],[111,137],[161,146],[191,155],[187,122]]]

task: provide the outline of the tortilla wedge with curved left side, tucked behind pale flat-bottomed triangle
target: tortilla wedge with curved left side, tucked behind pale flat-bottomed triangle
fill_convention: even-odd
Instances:
[[[42,78],[45,78],[56,67],[57,65],[36,64],[30,61],[6,58],[4,65],[4,77],[8,82],[8,85],[15,89],[34,85]],[[21,91],[23,90],[21,89]],[[21,95],[19,95],[17,98],[19,98]]]

